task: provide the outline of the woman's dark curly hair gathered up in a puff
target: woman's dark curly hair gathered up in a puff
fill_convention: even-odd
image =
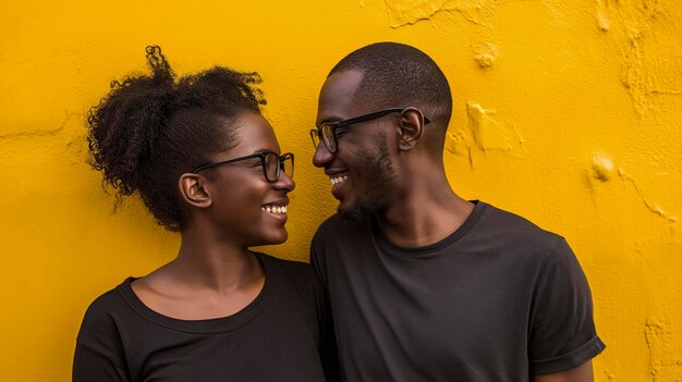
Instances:
[[[181,174],[234,146],[234,122],[266,104],[258,73],[227,67],[176,78],[161,48],[146,48],[150,74],[111,83],[87,116],[89,164],[117,190],[138,192],[157,222],[181,231],[185,222],[176,183]]]

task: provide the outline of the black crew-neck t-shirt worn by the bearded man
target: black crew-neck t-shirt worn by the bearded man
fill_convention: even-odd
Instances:
[[[477,202],[439,243],[405,248],[373,220],[327,220],[312,263],[346,381],[528,381],[604,349],[567,242]]]

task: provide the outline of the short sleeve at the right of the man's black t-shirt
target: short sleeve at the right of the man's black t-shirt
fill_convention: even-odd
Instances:
[[[595,330],[587,279],[563,238],[537,275],[528,341],[532,374],[573,369],[606,347]]]

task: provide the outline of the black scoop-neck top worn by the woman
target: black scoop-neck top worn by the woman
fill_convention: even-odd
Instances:
[[[256,256],[263,291],[230,317],[159,315],[133,293],[133,279],[97,298],[78,333],[73,381],[324,382],[319,281],[306,263]]]

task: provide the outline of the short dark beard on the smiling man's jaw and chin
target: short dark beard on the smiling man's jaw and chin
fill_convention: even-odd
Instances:
[[[387,194],[393,188],[395,171],[388,152],[386,134],[379,134],[375,143],[378,152],[365,156],[363,164],[368,170],[364,174],[364,181],[372,182],[369,188],[364,195],[357,195],[355,202],[348,208],[339,205],[338,212],[346,220],[358,221],[375,217],[390,207]]]

